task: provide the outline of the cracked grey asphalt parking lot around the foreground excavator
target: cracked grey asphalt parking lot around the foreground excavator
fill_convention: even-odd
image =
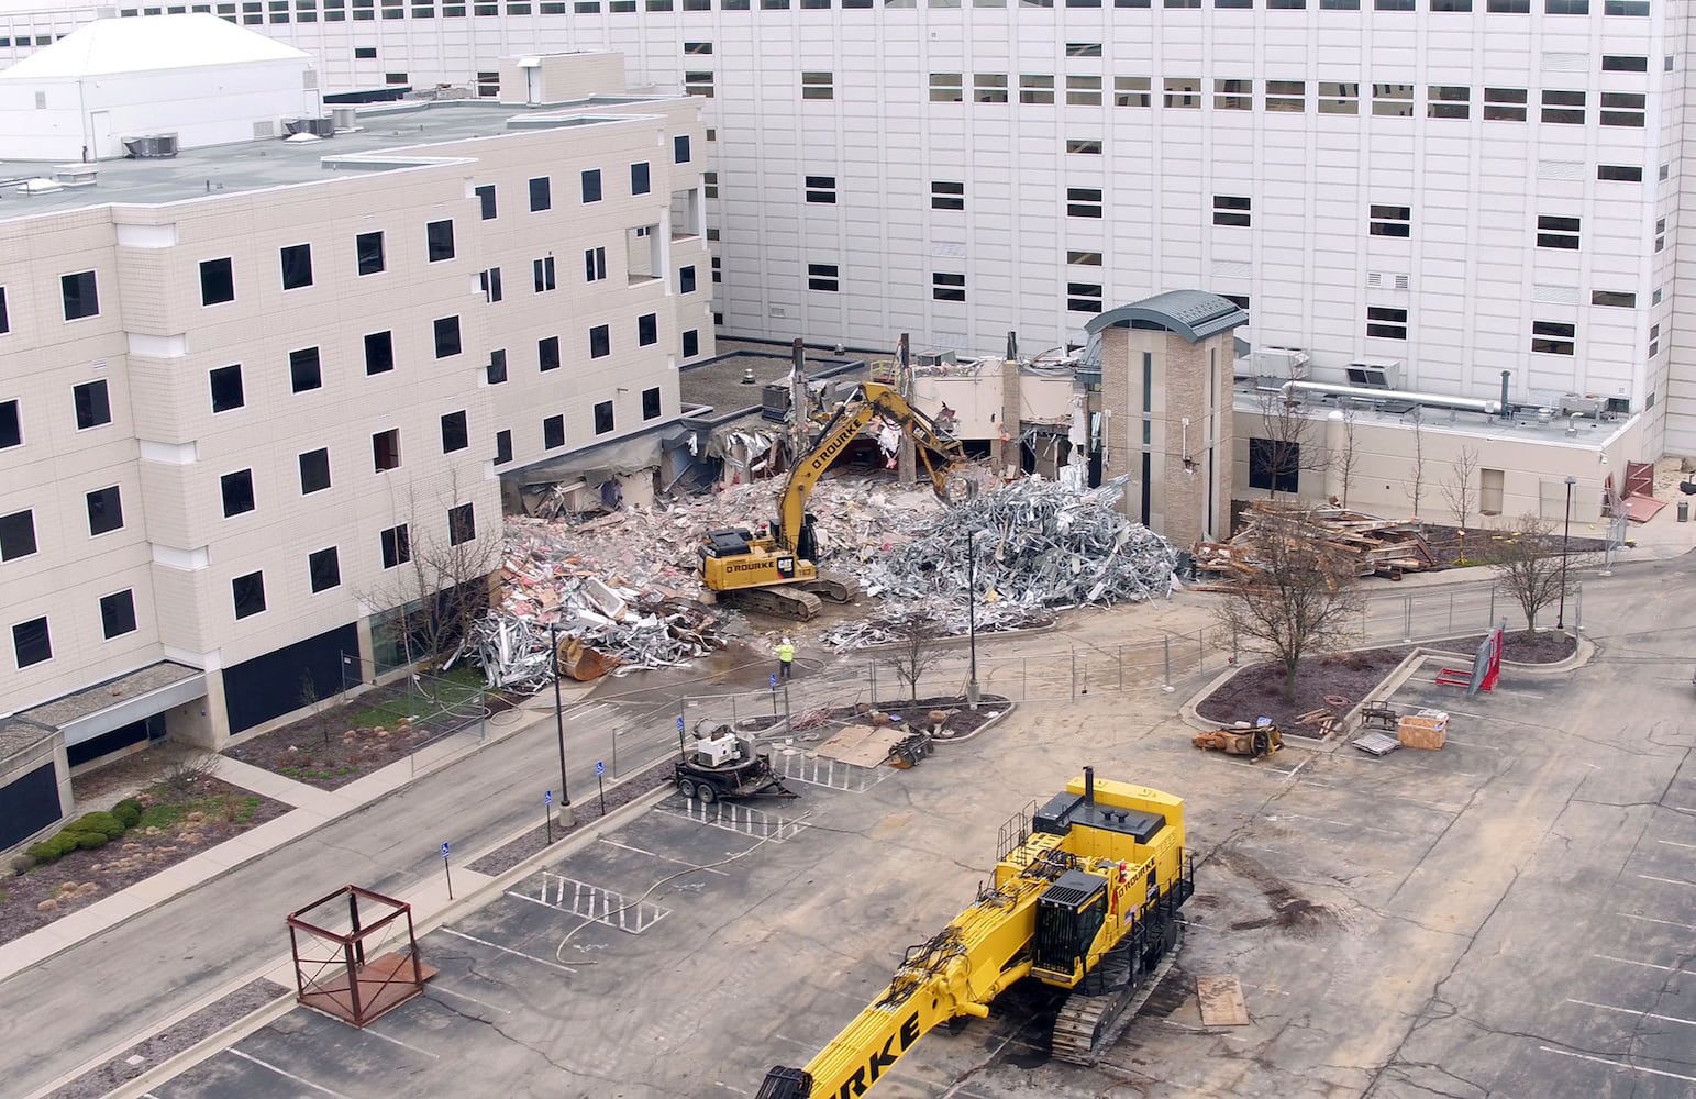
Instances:
[[[366,1031],[295,1009],[151,1094],[751,1096],[1085,763],[1189,802],[1177,967],[1094,1068],[1050,1063],[1041,997],[1016,997],[877,1096],[1696,1094],[1688,670],[1599,660],[1477,699],[1430,673],[1394,702],[1450,711],[1442,751],[1202,756],[1148,692],[1024,707],[914,770],[838,768],[722,819],[673,795],[426,936],[441,975]],[[1204,1028],[1194,979],[1225,973],[1250,1024]]]

